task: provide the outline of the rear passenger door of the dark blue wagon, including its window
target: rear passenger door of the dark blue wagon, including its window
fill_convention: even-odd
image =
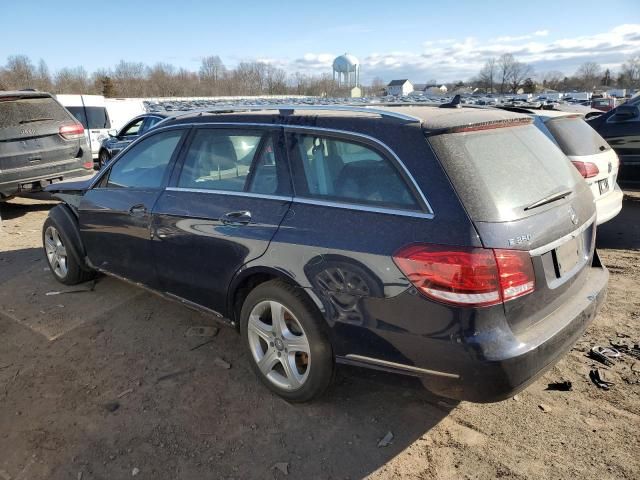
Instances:
[[[264,254],[291,203],[281,136],[275,127],[194,129],[153,209],[165,292],[225,313],[231,279]]]

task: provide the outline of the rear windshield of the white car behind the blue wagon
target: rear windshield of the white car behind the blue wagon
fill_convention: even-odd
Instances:
[[[560,117],[547,120],[545,125],[566,155],[595,155],[611,147],[579,117]]]

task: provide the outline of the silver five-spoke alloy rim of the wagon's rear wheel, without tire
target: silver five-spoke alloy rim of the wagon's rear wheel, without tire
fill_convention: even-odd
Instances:
[[[283,304],[265,300],[249,315],[251,354],[262,374],[284,390],[301,388],[309,377],[311,349],[302,325]]]

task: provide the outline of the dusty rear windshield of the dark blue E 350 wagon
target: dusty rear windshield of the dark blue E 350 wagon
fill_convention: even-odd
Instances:
[[[476,221],[506,222],[534,214],[524,208],[582,181],[534,125],[435,135],[429,142]]]

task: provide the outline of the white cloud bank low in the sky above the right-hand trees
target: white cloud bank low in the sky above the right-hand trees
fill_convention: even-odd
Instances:
[[[468,79],[478,73],[489,57],[504,53],[532,64],[539,73],[560,70],[572,74],[586,61],[617,68],[628,57],[640,54],[640,24],[624,24],[603,33],[557,40],[548,40],[548,35],[549,31],[539,30],[482,41],[475,37],[429,40],[418,44],[416,50],[369,53],[360,57],[362,78],[367,81],[374,76],[385,80],[408,77],[415,82],[432,78]],[[287,69],[330,73],[333,58],[333,53],[306,53],[289,61]]]

